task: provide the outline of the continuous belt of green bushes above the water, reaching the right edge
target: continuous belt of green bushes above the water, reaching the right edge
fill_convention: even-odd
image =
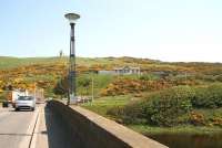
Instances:
[[[172,87],[125,107],[112,108],[108,114],[121,118],[124,124],[175,126],[188,124],[192,109],[202,107],[222,107],[222,84]]]

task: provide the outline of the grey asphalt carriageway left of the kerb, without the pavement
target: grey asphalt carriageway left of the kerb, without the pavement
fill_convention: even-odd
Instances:
[[[38,112],[39,107],[34,112],[0,107],[0,148],[29,147]]]

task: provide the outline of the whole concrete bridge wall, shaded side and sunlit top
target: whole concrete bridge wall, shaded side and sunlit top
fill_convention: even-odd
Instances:
[[[68,128],[74,148],[167,148],[80,106],[68,107],[57,101],[49,102],[48,106]]]

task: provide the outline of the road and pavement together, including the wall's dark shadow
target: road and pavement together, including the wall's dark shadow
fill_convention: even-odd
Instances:
[[[34,112],[0,107],[0,148],[72,148],[62,125],[46,104]]]

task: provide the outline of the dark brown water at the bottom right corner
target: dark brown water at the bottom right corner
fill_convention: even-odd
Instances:
[[[222,134],[216,135],[152,135],[148,136],[170,148],[222,148]]]

